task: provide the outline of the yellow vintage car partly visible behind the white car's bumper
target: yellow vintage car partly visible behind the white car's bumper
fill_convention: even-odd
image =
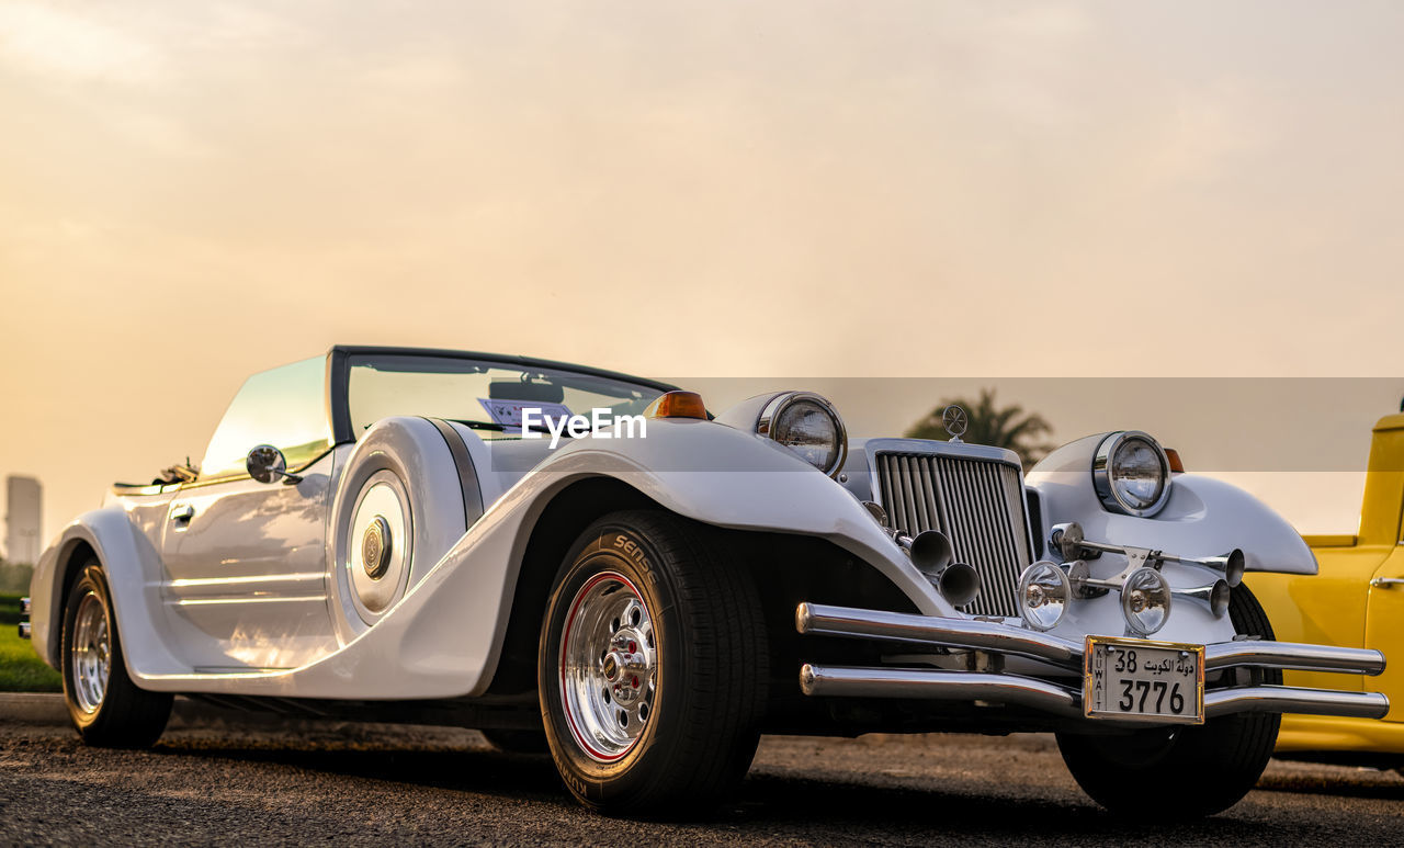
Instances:
[[[1306,536],[1320,574],[1254,573],[1245,583],[1276,637],[1373,647],[1394,660],[1370,688],[1390,698],[1383,720],[1282,716],[1276,753],[1290,760],[1404,768],[1404,414],[1375,425],[1359,531]],[[1359,689],[1359,677],[1287,671],[1292,687]]]

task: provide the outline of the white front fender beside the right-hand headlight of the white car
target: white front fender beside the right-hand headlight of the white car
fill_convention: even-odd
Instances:
[[[1244,552],[1250,571],[1316,574],[1317,562],[1296,529],[1243,489],[1202,475],[1172,476],[1170,500],[1150,518],[1112,512],[1092,484],[1092,458],[1108,434],[1063,445],[1029,472],[1049,525],[1077,521],[1088,539],[1153,548],[1177,556]]]

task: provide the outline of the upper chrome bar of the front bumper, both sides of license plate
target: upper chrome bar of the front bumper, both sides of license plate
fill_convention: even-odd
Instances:
[[[795,609],[795,629],[814,636],[883,639],[917,644],[935,644],[965,650],[983,650],[1043,660],[1074,671],[1082,670],[1082,644],[1061,636],[1012,628],[998,622],[966,618],[941,618],[800,604]],[[1380,674],[1384,654],[1358,647],[1303,644],[1296,642],[1220,642],[1205,646],[1205,671],[1257,665],[1293,671],[1346,671]]]

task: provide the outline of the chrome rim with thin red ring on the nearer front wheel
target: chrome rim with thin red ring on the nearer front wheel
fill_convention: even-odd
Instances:
[[[653,720],[658,646],[653,616],[628,577],[604,571],[570,602],[560,640],[560,699],[591,760],[626,755]]]

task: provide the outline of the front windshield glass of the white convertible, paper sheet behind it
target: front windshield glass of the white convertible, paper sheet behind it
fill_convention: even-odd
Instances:
[[[521,410],[545,417],[637,416],[663,392],[619,379],[486,359],[403,354],[351,358],[347,404],[352,432],[390,416],[463,421],[483,438],[521,435]]]

